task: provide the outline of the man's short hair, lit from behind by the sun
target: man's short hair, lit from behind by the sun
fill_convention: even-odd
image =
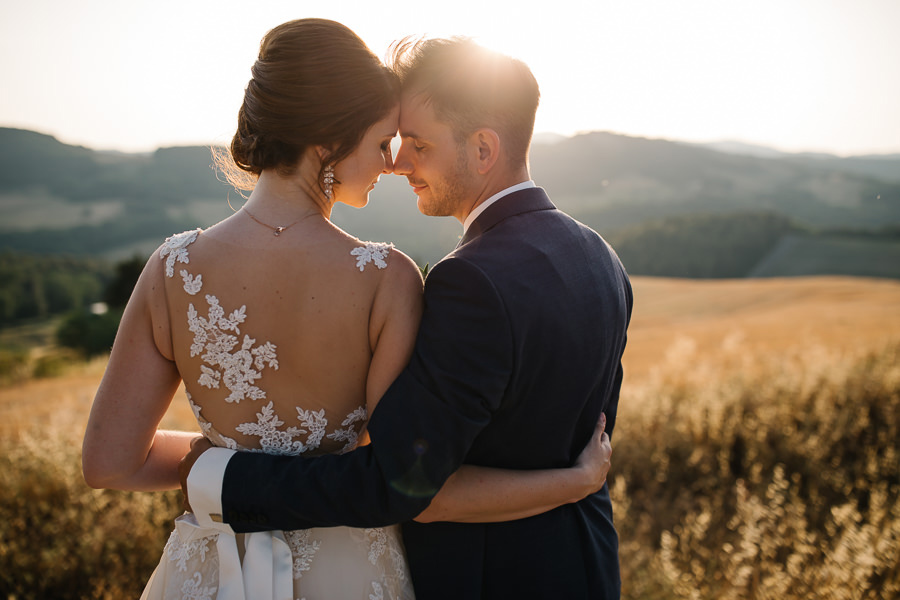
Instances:
[[[403,90],[423,95],[458,142],[489,127],[500,135],[510,162],[525,163],[540,90],[524,62],[454,37],[405,38],[393,45],[389,64]]]

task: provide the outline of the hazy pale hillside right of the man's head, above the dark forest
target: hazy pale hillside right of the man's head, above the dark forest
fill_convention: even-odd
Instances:
[[[601,230],[647,218],[748,211],[815,227],[900,223],[900,183],[846,163],[741,156],[595,132],[534,146],[531,165],[557,204],[587,215]]]

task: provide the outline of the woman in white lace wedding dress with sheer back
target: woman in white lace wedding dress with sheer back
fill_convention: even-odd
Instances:
[[[336,202],[365,206],[391,173],[398,88],[338,23],[265,36],[230,148],[230,180],[249,176],[252,193],[209,229],[168,238],[144,268],[85,433],[89,485],[179,487],[196,434],[157,427],[182,382],[217,446],[318,455],[367,442],[367,417],[412,352],[422,278],[330,215]],[[570,469],[464,466],[423,518],[501,521],[527,516],[508,498],[533,501],[531,514],[578,500],[602,486],[610,451],[600,427]],[[476,485],[493,493],[472,497]],[[144,597],[411,598],[412,586],[397,526],[233,535],[186,513]]]

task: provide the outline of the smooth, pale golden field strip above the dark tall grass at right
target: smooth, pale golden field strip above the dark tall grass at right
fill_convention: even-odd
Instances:
[[[632,283],[628,382],[685,354],[759,357],[814,346],[875,348],[900,339],[900,281],[635,277]]]

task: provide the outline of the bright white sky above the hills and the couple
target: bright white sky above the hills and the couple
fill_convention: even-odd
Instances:
[[[517,8],[503,8],[517,6]],[[898,0],[0,0],[0,126],[97,149],[225,143],[265,32],[340,21],[521,58],[536,131],[900,152]]]

